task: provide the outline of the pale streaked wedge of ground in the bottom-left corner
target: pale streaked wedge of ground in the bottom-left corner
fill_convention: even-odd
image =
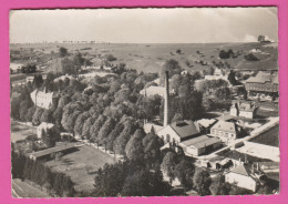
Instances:
[[[12,196],[17,198],[21,197],[51,197],[48,193],[34,187],[27,182],[22,182],[19,178],[12,180]]]

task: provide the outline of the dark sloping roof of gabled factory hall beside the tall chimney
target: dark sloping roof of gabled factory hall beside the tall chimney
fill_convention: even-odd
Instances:
[[[169,126],[184,139],[199,133],[199,128],[193,121],[173,122]]]

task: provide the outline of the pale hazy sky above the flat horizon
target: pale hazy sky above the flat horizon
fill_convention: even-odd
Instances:
[[[111,43],[278,41],[277,8],[79,9],[10,11],[10,42]]]

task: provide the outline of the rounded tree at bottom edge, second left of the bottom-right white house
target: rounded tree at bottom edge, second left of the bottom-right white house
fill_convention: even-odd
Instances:
[[[208,172],[197,169],[193,176],[193,185],[200,196],[210,195],[209,186],[212,184]]]

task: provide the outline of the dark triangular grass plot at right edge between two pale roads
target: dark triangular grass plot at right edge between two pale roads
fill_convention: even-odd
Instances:
[[[249,142],[256,142],[270,146],[279,146],[279,125],[269,129],[259,136],[251,139]]]

